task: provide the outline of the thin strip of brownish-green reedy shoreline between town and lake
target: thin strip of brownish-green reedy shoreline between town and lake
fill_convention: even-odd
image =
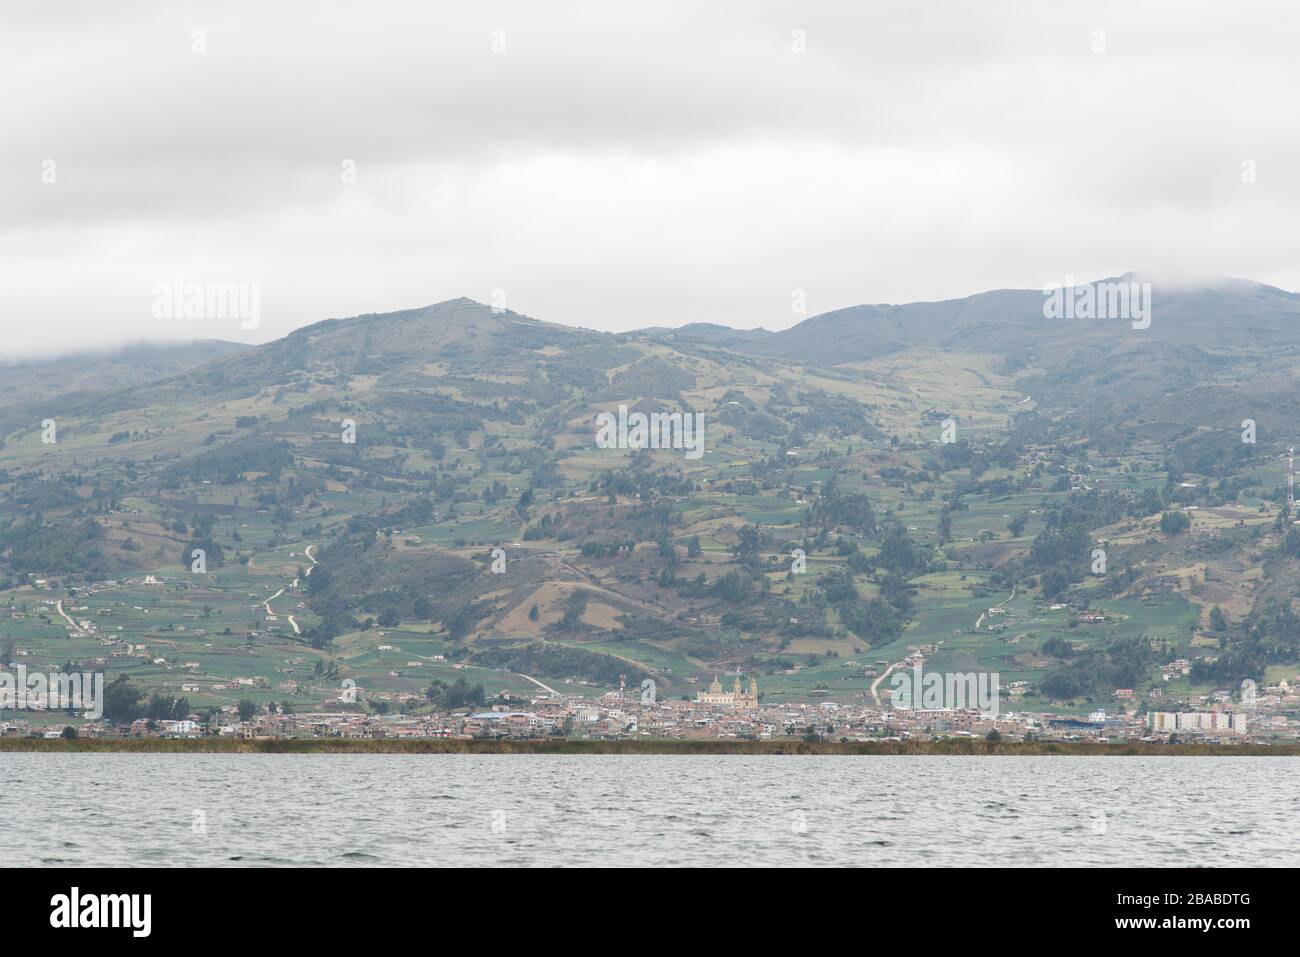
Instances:
[[[4,752],[120,754],[772,754],[988,757],[1300,757],[1300,744],[1095,744],[1075,741],[484,741],[464,739],[0,737]]]

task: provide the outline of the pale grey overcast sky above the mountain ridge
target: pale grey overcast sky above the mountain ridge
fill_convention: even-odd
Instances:
[[[494,290],[608,330],[1295,290],[1297,40],[1283,3],[0,3],[0,356]],[[156,317],[176,276],[260,324]]]

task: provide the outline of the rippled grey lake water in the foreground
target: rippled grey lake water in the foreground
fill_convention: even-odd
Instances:
[[[1297,866],[1300,758],[0,753],[10,865]]]

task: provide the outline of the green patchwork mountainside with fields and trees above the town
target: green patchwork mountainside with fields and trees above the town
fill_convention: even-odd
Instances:
[[[0,369],[0,641],[212,706],[736,670],[852,698],[918,646],[1043,709],[1294,668],[1300,298],[1043,303],[616,335],[455,299]],[[602,447],[620,407],[702,415],[698,455]]]

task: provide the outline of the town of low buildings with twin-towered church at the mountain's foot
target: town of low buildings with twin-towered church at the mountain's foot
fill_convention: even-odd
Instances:
[[[915,659],[919,663],[919,658]],[[578,740],[803,740],[832,742],[984,737],[1020,741],[1204,741],[1209,744],[1295,744],[1300,741],[1300,675],[1234,701],[1225,689],[1195,702],[1162,702],[1179,710],[1140,711],[1135,694],[1115,692],[1112,710],[1079,716],[1034,711],[984,711],[975,707],[914,709],[894,706],[889,689],[881,701],[818,701],[767,705],[758,681],[733,677],[724,690],[715,679],[694,700],[656,698],[653,688],[620,688],[599,697],[546,689],[524,698],[508,692],[481,707],[421,710],[416,694],[363,694],[344,683],[338,697],[313,710],[289,706],[254,709],[250,703],[190,713],[168,719],[110,719],[64,724],[27,701],[40,715],[5,718],[4,736],[43,737],[243,737],[243,739],[578,739]],[[238,685],[237,685],[238,687]],[[1009,689],[1014,702],[1017,687]],[[0,710],[16,701],[0,690]]]

